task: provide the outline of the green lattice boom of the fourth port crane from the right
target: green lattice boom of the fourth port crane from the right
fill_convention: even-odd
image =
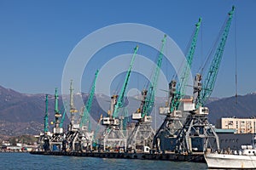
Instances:
[[[136,48],[134,48],[134,53],[133,53],[132,58],[131,58],[131,63],[130,63],[129,69],[126,73],[125,82],[124,82],[123,87],[122,87],[122,89],[119,93],[117,103],[116,103],[116,105],[114,105],[114,111],[113,111],[113,117],[114,118],[118,116],[119,108],[121,108],[124,105],[125,91],[126,91],[129,79],[130,79],[131,69],[132,69],[132,66],[134,64],[134,60],[135,60],[135,57],[136,57],[136,54],[137,54],[137,50],[138,50],[138,46],[136,46]]]

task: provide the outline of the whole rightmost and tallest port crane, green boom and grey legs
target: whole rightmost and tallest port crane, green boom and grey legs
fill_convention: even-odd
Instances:
[[[233,6],[228,14],[228,19],[224,23],[224,29],[220,31],[221,37],[218,37],[218,47],[213,57],[212,63],[207,72],[207,77],[201,87],[201,74],[195,76],[193,103],[195,109],[190,111],[183,128],[177,136],[177,148],[179,153],[190,154],[194,152],[205,152],[208,147],[219,150],[218,135],[215,133],[212,125],[207,120],[209,110],[205,107],[207,99],[212,94],[214,84],[218,75],[219,65],[224,53],[225,43],[230,31],[231,20],[235,12]],[[214,148],[215,147],[215,148]]]

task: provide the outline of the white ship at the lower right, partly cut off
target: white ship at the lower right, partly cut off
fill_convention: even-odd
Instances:
[[[242,145],[234,154],[206,153],[208,168],[256,169],[256,149],[252,145]]]

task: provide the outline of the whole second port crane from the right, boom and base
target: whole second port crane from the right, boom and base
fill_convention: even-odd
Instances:
[[[183,117],[182,112],[178,111],[178,108],[181,103],[181,99],[183,99],[185,95],[200,26],[201,18],[195,24],[195,31],[191,37],[192,39],[190,41],[191,43],[188,53],[186,54],[186,59],[183,62],[183,71],[181,73],[179,83],[177,83],[177,80],[175,79],[169,83],[167,105],[166,107],[160,107],[160,115],[166,115],[166,118],[154,135],[153,145],[154,150],[157,152],[160,152],[160,150],[163,152],[165,150],[174,150],[178,130],[183,127],[183,123],[181,122]]]

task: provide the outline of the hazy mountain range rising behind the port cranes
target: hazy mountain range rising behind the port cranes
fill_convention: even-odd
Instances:
[[[84,103],[88,99],[88,94],[77,94],[74,100],[82,95]],[[54,120],[54,95],[49,95],[49,122]],[[129,97],[125,99],[125,105],[128,105],[128,113],[136,111],[140,105],[137,98]],[[165,98],[155,99],[155,108],[165,104]],[[247,94],[243,96],[229,98],[212,98],[207,102],[210,110],[208,116],[209,122],[215,124],[221,117],[252,117],[256,116],[256,94]],[[94,96],[91,116],[94,120],[94,126],[101,115],[106,116],[110,105],[110,98],[104,94]],[[59,108],[63,113],[62,96],[59,97]],[[80,108],[80,105],[77,106]],[[78,109],[79,110],[79,109]],[[155,128],[160,126],[164,117],[159,116],[156,109],[151,115],[155,119]],[[0,139],[20,134],[39,134],[44,131],[45,115],[45,94],[21,94],[9,88],[0,86]],[[66,116],[63,127],[67,127],[69,120]]]

